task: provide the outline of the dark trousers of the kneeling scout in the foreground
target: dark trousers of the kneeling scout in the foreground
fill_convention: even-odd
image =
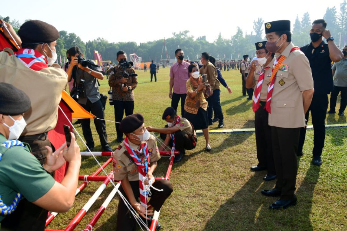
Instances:
[[[130,181],[130,186],[133,190],[135,198],[140,197],[138,181]],[[155,211],[160,210],[161,206],[164,204],[164,201],[172,193],[172,184],[168,180],[155,180],[153,187],[158,189],[163,189],[162,192],[158,192],[151,188],[151,199],[149,204],[151,204]],[[127,195],[124,192],[122,186],[119,187],[119,191],[125,196],[128,200]],[[128,200],[129,201],[129,200]],[[135,231],[136,221],[133,215],[130,213],[129,209],[125,205],[122,199],[119,199],[118,203],[118,212],[117,212],[117,230],[118,231]]]

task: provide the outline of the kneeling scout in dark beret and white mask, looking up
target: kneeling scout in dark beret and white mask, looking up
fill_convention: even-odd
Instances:
[[[145,219],[146,213],[147,215],[153,214],[153,208],[159,212],[164,201],[172,192],[172,185],[168,180],[155,180],[153,187],[163,189],[163,191],[158,192],[151,189],[152,196],[151,200],[147,202],[147,208],[138,202],[137,198],[140,197],[141,199],[142,197],[139,194],[139,183],[142,185],[140,181],[142,179],[139,179],[139,173],[142,171],[140,168],[143,167],[147,170],[143,174],[148,177],[147,180],[154,178],[153,171],[157,166],[156,161],[160,159],[159,150],[156,146],[155,137],[145,129],[144,118],[141,114],[136,113],[126,116],[120,122],[119,130],[124,132],[126,137],[113,153],[114,178],[115,180],[121,180],[120,192]],[[144,180],[145,185],[148,185],[147,180]],[[120,200],[117,213],[117,230],[132,231],[135,229],[135,224],[135,218],[129,212],[124,201]],[[158,223],[156,230],[160,228],[161,225]]]

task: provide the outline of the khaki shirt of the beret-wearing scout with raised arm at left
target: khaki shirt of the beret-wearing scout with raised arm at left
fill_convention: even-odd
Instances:
[[[12,84],[30,98],[31,108],[24,114],[27,125],[22,135],[41,134],[56,126],[61,92],[67,85],[63,69],[34,71],[16,56],[0,52],[0,82]]]

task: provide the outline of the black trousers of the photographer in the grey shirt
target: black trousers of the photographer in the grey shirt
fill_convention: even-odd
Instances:
[[[87,112],[92,113],[100,119],[105,118],[104,107],[102,106],[101,99],[92,103],[87,99],[87,104],[80,104]],[[106,124],[105,121],[100,119],[94,119],[94,124],[96,132],[98,132],[100,143],[102,147],[108,145],[107,134],[106,134]],[[81,119],[82,131],[84,139],[89,149],[94,148],[94,140],[92,135],[92,130],[90,129],[90,119]]]

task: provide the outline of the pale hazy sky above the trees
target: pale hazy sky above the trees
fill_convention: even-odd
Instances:
[[[219,33],[223,38],[231,38],[237,27],[242,28],[244,34],[250,34],[257,18],[262,18],[264,23],[287,19],[291,26],[296,15],[301,20],[305,12],[310,14],[312,21],[320,19],[327,7],[335,6],[339,12],[342,1],[321,1],[313,5],[307,0],[16,0],[18,7],[14,7],[12,1],[3,0],[0,15],[20,23],[26,19],[39,19],[59,31],[75,33],[84,42],[101,37],[109,42],[135,41],[139,44],[172,37],[173,32],[183,30],[189,30],[189,35],[194,38],[205,35],[207,41],[213,42]]]

